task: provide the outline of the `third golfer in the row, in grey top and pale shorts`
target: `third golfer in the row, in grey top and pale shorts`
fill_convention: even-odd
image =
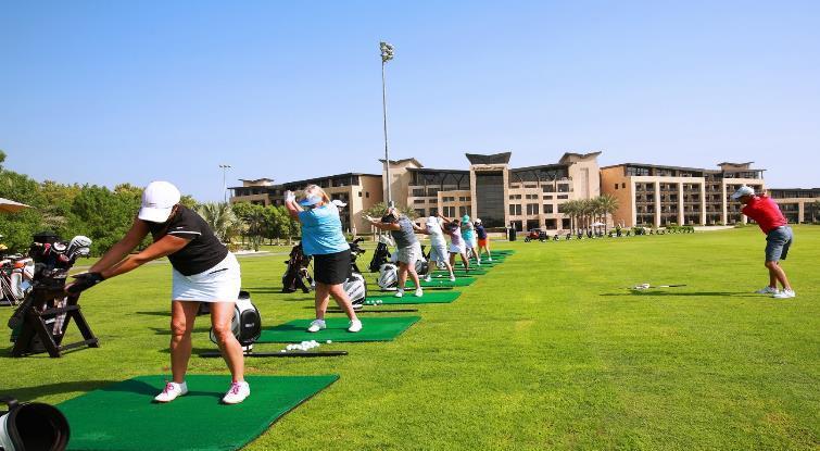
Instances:
[[[399,248],[399,288],[395,297],[401,298],[404,296],[407,274],[409,274],[413,285],[416,287],[416,297],[424,296],[421,284],[418,281],[418,274],[416,273],[416,261],[421,259],[421,243],[416,238],[413,222],[392,206],[381,216],[381,220],[370,216],[366,216],[366,218],[376,228],[390,230],[390,235],[395,240],[395,247]]]

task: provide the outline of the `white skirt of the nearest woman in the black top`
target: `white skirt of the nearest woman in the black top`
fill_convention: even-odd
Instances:
[[[174,288],[173,301],[236,302],[242,286],[237,258],[228,252],[225,260],[214,267],[192,276],[184,276],[172,270]]]

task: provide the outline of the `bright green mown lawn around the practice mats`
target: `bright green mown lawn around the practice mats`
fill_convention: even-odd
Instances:
[[[795,234],[783,263],[793,300],[750,293],[768,280],[756,227],[495,242],[518,252],[456,288],[456,302],[415,305],[421,321],[395,341],[249,359],[253,375],[341,379],[248,449],[820,449],[820,227]],[[240,260],[266,325],[312,314],[311,295],[279,293],[283,260]],[[641,283],[687,287],[623,289]],[[59,402],[167,372],[169,284],[157,264],[88,291],[102,348],[60,360],[3,351],[0,392]],[[207,324],[197,330],[197,350],[213,348]],[[216,359],[190,368],[226,373]]]

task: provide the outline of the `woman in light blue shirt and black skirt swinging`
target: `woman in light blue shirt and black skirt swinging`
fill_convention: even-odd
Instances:
[[[348,331],[362,330],[362,322],[353,311],[353,304],[343,287],[344,281],[351,276],[351,254],[350,245],[342,233],[339,208],[331,203],[330,197],[316,185],[308,185],[304,189],[304,199],[299,202],[293,192],[287,191],[285,206],[290,216],[302,224],[304,254],[313,255],[316,320],[307,327],[307,331],[317,333],[327,328],[325,313],[331,296],[350,318]]]

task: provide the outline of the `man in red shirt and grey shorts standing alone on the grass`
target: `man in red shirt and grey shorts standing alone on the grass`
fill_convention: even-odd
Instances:
[[[741,212],[754,220],[766,234],[766,267],[769,270],[769,285],[756,292],[772,295],[778,299],[794,298],[795,293],[789,284],[786,273],[780,266],[780,261],[786,260],[789,255],[794,235],[780,208],[767,196],[755,196],[755,190],[745,185],[732,195],[732,199],[743,203]],[[782,291],[778,290],[778,281],[783,286]]]

